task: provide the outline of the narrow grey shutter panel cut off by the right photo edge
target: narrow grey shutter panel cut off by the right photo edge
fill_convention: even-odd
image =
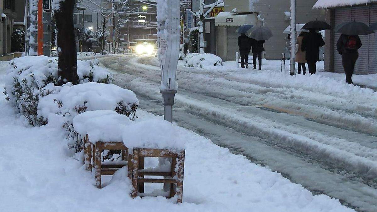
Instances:
[[[369,25],[377,22],[377,5],[370,6]],[[377,33],[369,35],[369,73],[377,73]]]

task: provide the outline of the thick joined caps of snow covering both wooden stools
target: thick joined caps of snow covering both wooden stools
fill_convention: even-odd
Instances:
[[[185,149],[190,140],[184,130],[161,118],[132,121],[115,111],[87,111],[75,116],[73,126],[90,141],[122,141],[129,149]]]

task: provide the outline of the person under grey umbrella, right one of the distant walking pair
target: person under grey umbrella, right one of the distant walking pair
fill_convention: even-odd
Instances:
[[[262,69],[262,52],[264,52],[265,40],[270,39],[273,34],[271,30],[265,26],[254,26],[248,31],[249,37],[251,38],[251,46],[253,51],[253,65],[254,69],[257,69],[257,58],[259,64],[259,70]]]

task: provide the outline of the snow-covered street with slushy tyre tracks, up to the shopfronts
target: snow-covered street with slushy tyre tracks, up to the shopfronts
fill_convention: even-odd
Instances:
[[[162,114],[155,57],[100,61],[142,109]],[[262,71],[234,62],[207,69],[179,63],[174,120],[315,194],[377,210],[377,77],[356,75],[354,86],[343,74],[291,77],[280,72],[280,61],[264,63]]]

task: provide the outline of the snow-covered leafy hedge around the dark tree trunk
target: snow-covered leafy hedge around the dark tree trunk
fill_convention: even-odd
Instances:
[[[82,139],[72,125],[76,115],[112,110],[133,119],[139,101],[132,91],[111,84],[110,72],[98,66],[98,61],[78,60],[77,66],[80,84],[57,86],[57,58],[15,58],[7,67],[4,94],[32,126],[62,127],[69,147],[79,152]]]

